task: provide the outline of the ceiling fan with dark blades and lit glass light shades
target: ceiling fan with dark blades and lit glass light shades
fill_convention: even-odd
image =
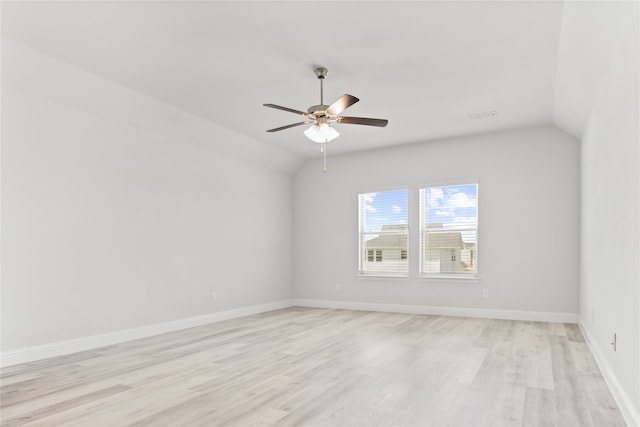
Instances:
[[[312,105],[307,109],[307,112],[296,110],[293,108],[282,107],[276,104],[263,104],[265,107],[275,108],[277,110],[288,111],[290,113],[298,114],[306,118],[301,122],[292,123],[285,126],[280,126],[277,128],[269,129],[267,132],[279,132],[281,130],[293,128],[296,126],[302,126],[311,124],[311,127],[307,129],[304,134],[310,140],[323,144],[322,145],[322,153],[325,157],[325,168],[326,172],[326,144],[330,141],[336,139],[340,134],[336,131],[331,124],[332,123],[344,123],[351,125],[366,125],[366,126],[377,126],[377,127],[385,127],[388,120],[385,119],[371,119],[367,117],[348,117],[348,116],[340,116],[344,110],[355,104],[359,101],[353,95],[349,95],[348,93],[342,95],[336,102],[331,105],[324,104],[324,93],[323,93],[323,81],[327,76],[328,70],[324,67],[316,67],[314,73],[318,80],[320,80],[320,104]]]

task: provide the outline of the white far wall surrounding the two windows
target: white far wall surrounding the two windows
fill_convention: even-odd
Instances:
[[[419,185],[467,178],[479,182],[480,282],[418,280]],[[410,278],[357,277],[357,194],[407,186]],[[579,146],[553,127],[330,155],[326,174],[308,162],[294,179],[294,221],[298,299],[578,312]]]

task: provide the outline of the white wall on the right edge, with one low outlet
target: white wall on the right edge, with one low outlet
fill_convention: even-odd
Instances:
[[[601,18],[571,6],[574,19]],[[582,140],[580,318],[627,420],[640,425],[640,6],[618,6],[626,20],[600,21],[617,37]]]

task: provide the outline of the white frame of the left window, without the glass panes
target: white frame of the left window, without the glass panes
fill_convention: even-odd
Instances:
[[[367,234],[385,234],[384,232],[365,232],[363,230],[364,218],[363,218],[363,208],[362,208],[362,199],[361,196],[371,193],[387,193],[394,191],[406,191],[407,192],[407,227],[406,231],[403,234],[407,236],[407,249],[406,249],[406,259],[402,258],[402,251],[400,254],[400,259],[405,260],[407,262],[407,270],[406,272],[398,272],[398,271],[382,271],[382,270],[366,270],[365,271],[365,261],[367,260],[368,253],[365,246]],[[410,270],[410,241],[411,241],[411,229],[409,226],[410,222],[410,199],[411,199],[411,190],[409,186],[406,187],[396,187],[396,188],[385,188],[379,190],[370,190],[370,191],[360,191],[358,192],[358,276],[359,277],[386,277],[386,278],[408,278],[409,270]],[[390,232],[387,234],[398,234],[397,232]],[[382,255],[382,254],[381,254]],[[381,260],[382,261],[382,260]],[[381,262],[377,261],[377,253],[374,252],[374,262],[373,264],[381,264]]]

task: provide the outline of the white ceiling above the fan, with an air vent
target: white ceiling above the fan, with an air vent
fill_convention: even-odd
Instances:
[[[6,2],[3,37],[249,137],[317,156],[304,127],[265,130],[319,103],[386,128],[337,124],[350,152],[552,121],[563,3]],[[470,114],[497,111],[491,118]]]

